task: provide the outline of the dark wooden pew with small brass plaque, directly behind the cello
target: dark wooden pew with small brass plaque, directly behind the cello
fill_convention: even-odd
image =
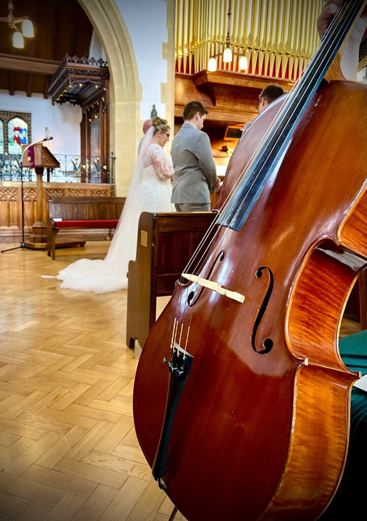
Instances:
[[[144,345],[156,320],[157,297],[171,295],[175,281],[210,227],[211,212],[143,212],[137,236],[136,261],[128,270],[126,344]]]

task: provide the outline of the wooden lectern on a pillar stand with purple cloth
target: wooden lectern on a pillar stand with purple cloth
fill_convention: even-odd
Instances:
[[[22,147],[23,150],[25,147]],[[26,245],[34,249],[45,249],[46,248],[46,224],[43,221],[43,169],[47,168],[49,173],[50,169],[59,168],[60,163],[56,157],[48,150],[47,146],[43,146],[42,143],[33,145],[33,150],[30,148],[23,154],[22,165],[23,167],[34,168],[37,176],[36,181],[36,194],[37,194],[37,205],[36,205],[36,220],[32,226],[32,233],[29,241]]]

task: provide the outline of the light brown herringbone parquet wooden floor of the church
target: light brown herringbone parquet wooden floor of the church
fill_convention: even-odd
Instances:
[[[134,432],[141,348],[125,344],[126,291],[62,290],[41,278],[103,258],[108,245],[58,250],[56,261],[0,254],[1,521],[168,521],[172,512]]]

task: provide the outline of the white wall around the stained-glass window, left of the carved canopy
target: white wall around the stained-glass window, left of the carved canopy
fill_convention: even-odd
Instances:
[[[45,100],[43,94],[15,92],[9,96],[8,91],[0,90],[0,110],[29,112],[32,115],[32,141],[45,137],[45,127],[54,139],[48,141],[49,150],[55,154],[80,155],[80,106],[64,103],[52,105],[51,99]],[[5,145],[5,143],[4,143]]]

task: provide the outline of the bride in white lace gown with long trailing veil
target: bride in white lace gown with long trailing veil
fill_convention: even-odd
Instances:
[[[174,170],[163,151],[170,137],[167,120],[155,118],[138,155],[128,196],[106,257],[80,259],[59,271],[60,288],[108,293],[128,287],[126,272],[135,259],[138,221],[142,212],[174,212],[171,204]]]

